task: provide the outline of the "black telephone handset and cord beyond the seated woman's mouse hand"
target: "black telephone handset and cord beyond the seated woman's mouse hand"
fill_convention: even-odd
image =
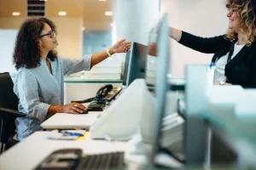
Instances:
[[[108,95],[109,92],[113,89],[113,86],[111,84],[107,84],[100,88],[97,93],[96,97],[90,98],[90,99],[84,99],[84,100],[72,100],[71,103],[76,102],[76,103],[88,103],[92,102],[93,100],[104,100],[104,97]]]

